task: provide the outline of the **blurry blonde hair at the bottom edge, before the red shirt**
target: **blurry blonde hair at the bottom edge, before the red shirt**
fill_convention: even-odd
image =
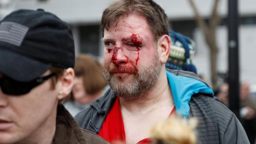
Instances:
[[[150,138],[154,144],[196,144],[196,125],[197,120],[193,118],[171,116],[150,130]]]

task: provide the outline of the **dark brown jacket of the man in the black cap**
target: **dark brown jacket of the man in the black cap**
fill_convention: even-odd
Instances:
[[[79,128],[66,108],[59,104],[52,144],[108,144],[108,142],[88,130]]]

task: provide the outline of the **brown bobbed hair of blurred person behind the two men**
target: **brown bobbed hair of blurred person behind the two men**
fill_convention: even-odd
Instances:
[[[74,71],[76,76],[84,77],[84,87],[88,94],[95,94],[107,85],[102,65],[87,54],[76,56]]]

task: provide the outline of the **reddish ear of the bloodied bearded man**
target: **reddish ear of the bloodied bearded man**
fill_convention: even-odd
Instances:
[[[171,38],[164,34],[158,39],[158,54],[161,64],[165,64],[170,53]]]

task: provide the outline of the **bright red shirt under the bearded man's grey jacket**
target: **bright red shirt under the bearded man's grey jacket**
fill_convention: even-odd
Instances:
[[[175,107],[170,112],[171,114],[175,114]],[[108,142],[114,142],[116,140],[126,141],[125,140],[125,131],[124,131],[124,122],[122,118],[122,113],[119,104],[119,97],[116,98],[110,112],[108,113],[105,121],[100,128],[99,136],[107,140]],[[140,140],[137,144],[148,144],[150,141],[149,138],[145,138]]]

